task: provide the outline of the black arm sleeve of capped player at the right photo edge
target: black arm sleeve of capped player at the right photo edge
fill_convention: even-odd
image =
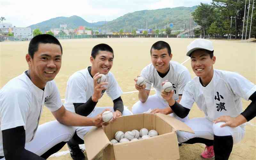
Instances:
[[[241,113],[247,121],[250,121],[256,116],[256,92],[249,99],[252,101],[251,104]]]

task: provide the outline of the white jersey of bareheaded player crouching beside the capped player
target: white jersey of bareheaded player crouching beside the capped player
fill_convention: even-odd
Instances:
[[[174,90],[173,98],[176,100],[179,99],[179,94],[183,93],[186,84],[191,80],[188,69],[175,61],[170,61],[170,70],[163,78],[159,76],[152,63],[142,69],[140,76],[145,78],[146,90],[150,90],[153,84],[156,94],[161,98],[162,82],[166,80],[171,82]]]

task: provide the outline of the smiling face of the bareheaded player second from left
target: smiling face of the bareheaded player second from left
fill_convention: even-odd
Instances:
[[[100,72],[100,74],[108,74],[109,70],[113,66],[113,53],[109,51],[98,51],[98,54],[95,58],[90,57],[90,61],[92,63],[91,74],[94,76],[96,73]]]

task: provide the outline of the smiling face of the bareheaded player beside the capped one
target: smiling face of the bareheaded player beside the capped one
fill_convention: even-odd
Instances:
[[[167,48],[164,49],[151,49],[151,62],[156,70],[160,73],[166,73],[169,70],[172,54],[168,54]]]

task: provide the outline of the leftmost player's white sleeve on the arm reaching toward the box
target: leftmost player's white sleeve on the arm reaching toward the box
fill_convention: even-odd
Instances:
[[[60,99],[60,92],[58,90],[58,87],[55,83],[55,81],[48,82],[49,85],[49,90],[51,90],[51,94],[45,101],[44,105],[51,111],[57,111],[61,106],[62,102]]]

